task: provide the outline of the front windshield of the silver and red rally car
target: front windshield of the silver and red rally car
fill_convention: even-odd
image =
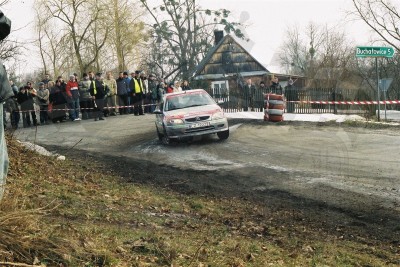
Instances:
[[[166,99],[165,111],[215,104],[207,93],[188,93],[170,96]]]

